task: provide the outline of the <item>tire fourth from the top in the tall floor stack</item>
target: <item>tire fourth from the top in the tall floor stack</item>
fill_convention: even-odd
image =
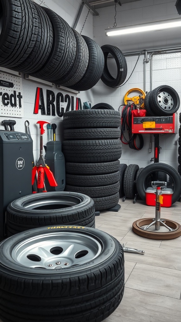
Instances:
[[[75,175],[103,175],[119,171],[119,164],[119,160],[99,163],[66,162],[65,171]]]

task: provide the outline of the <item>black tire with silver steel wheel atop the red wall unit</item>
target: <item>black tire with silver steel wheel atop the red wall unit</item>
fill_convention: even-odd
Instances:
[[[158,86],[152,90],[151,100],[153,113],[158,116],[173,115],[180,106],[178,93],[167,85]]]

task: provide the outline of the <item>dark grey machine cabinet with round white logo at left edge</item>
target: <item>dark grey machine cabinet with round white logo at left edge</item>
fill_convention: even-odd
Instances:
[[[32,160],[30,135],[0,130],[0,240],[6,235],[7,205],[32,193]]]

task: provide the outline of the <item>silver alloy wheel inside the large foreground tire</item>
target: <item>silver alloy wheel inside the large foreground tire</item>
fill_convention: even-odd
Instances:
[[[27,238],[14,246],[12,258],[26,267],[54,270],[87,263],[101,251],[97,239],[66,231]]]

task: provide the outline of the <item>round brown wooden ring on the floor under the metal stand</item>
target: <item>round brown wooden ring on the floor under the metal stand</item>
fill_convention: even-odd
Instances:
[[[165,219],[166,225],[174,229],[172,232],[150,232],[141,228],[142,226],[149,225],[152,222],[152,218],[141,218],[136,220],[132,226],[133,232],[141,237],[157,240],[174,239],[181,236],[181,225],[173,220]]]

